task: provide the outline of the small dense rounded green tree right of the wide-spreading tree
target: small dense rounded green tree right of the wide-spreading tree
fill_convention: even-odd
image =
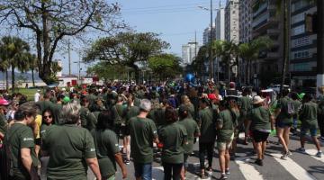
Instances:
[[[173,54],[160,54],[148,59],[148,67],[153,71],[159,80],[173,78],[182,73],[180,58]]]

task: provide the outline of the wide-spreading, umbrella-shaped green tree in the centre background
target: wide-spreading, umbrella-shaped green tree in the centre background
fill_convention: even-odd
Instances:
[[[160,40],[152,32],[120,32],[113,37],[96,40],[85,52],[86,62],[100,60],[108,64],[131,67],[135,79],[139,82],[139,63],[147,62],[148,58],[156,56],[167,49],[169,44]]]

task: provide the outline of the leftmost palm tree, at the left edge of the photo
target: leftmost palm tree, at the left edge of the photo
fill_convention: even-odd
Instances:
[[[27,42],[17,37],[5,36],[1,40],[1,47],[4,50],[4,61],[11,65],[12,70],[12,91],[14,93],[14,69],[24,71],[28,67],[26,55],[30,49]]]

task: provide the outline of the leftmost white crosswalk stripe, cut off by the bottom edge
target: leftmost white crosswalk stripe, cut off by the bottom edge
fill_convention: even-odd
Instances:
[[[247,180],[263,180],[263,175],[261,175],[255,166],[249,164],[250,158],[247,157],[237,157],[235,159],[238,168]]]

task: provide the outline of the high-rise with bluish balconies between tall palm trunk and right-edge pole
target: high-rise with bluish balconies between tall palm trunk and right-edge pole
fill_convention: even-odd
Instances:
[[[316,12],[316,4],[310,1],[292,1],[290,72],[294,86],[316,86],[317,34],[305,28],[306,14]]]

